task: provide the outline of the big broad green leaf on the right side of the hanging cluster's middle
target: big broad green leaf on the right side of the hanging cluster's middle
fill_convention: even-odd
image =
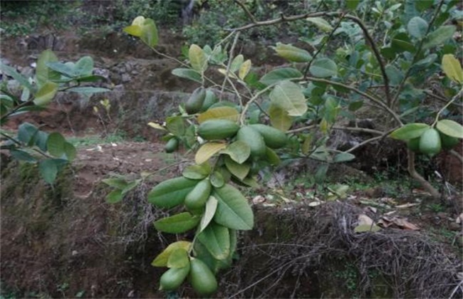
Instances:
[[[225,184],[214,189],[212,195],[219,201],[214,221],[230,229],[249,230],[254,226],[254,214],[243,194]]]

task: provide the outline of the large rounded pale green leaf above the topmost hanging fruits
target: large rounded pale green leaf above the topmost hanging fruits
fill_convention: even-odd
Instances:
[[[276,85],[269,98],[272,105],[285,110],[289,116],[301,116],[307,112],[306,98],[301,87],[291,81]]]

